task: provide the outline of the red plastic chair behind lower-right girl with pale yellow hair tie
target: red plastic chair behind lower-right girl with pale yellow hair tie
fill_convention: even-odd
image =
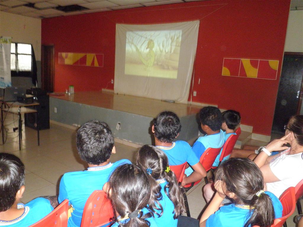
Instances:
[[[274,224],[271,227],[281,227],[283,224],[286,224],[286,219],[289,218],[295,211],[296,201],[295,201],[295,187],[289,187],[286,189],[279,198],[282,203],[283,211],[282,217],[274,220]],[[254,225],[253,227],[260,227]]]

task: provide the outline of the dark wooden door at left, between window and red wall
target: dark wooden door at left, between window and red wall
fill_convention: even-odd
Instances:
[[[42,89],[54,92],[55,59],[54,46],[42,45]]]

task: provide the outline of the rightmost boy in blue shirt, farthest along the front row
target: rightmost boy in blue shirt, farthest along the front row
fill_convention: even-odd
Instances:
[[[231,135],[236,135],[235,129],[240,124],[241,116],[240,116],[240,113],[235,110],[226,110],[222,113],[222,117],[223,117],[223,123],[222,123],[221,129],[224,130],[223,133],[224,133],[224,143],[225,143],[226,140]],[[213,166],[218,166],[222,150],[223,150],[223,148],[221,149],[220,153],[216,157],[214,164],[212,164]],[[229,159],[229,157],[230,157],[230,155],[223,158],[222,162]]]

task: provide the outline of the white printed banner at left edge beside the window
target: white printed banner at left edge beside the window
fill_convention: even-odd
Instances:
[[[11,37],[0,37],[0,87],[11,87]]]

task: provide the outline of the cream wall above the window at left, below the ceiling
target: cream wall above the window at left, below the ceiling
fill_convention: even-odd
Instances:
[[[32,44],[37,61],[41,61],[41,19],[0,12],[0,36],[12,42]]]

